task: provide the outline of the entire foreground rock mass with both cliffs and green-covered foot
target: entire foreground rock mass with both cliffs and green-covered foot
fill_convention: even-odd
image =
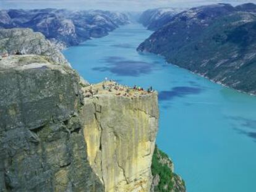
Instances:
[[[156,91],[113,81],[89,86],[45,56],[53,45],[42,48],[40,33],[0,33],[9,52],[27,51],[29,42],[39,50],[0,60],[0,191],[186,191],[155,148]]]

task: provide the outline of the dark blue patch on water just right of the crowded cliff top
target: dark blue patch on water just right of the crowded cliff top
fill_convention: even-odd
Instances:
[[[199,94],[202,89],[190,86],[176,86],[171,91],[161,91],[158,98],[160,101],[171,100],[174,98],[182,98],[189,94]]]

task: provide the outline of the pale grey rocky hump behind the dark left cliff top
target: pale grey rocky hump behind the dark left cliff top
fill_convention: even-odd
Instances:
[[[55,64],[69,65],[62,53],[41,33],[31,29],[0,29],[0,55],[37,54]]]

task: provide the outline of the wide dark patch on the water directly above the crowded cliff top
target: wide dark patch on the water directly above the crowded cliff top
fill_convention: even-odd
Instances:
[[[119,76],[131,77],[148,74],[153,70],[153,65],[148,62],[131,61],[123,57],[108,57],[105,61],[109,63],[109,67],[94,67],[93,70],[109,71]]]

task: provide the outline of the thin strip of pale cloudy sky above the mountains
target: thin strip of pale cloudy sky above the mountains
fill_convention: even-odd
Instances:
[[[103,9],[141,11],[157,7],[195,7],[204,4],[225,2],[242,4],[256,0],[0,0],[0,9]]]

